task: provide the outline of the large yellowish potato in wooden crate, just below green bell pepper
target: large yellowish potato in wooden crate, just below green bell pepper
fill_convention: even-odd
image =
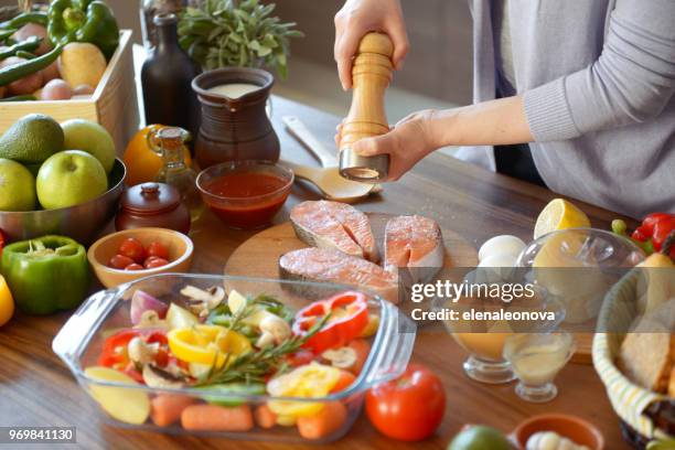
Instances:
[[[72,42],[58,56],[61,77],[72,87],[83,84],[96,87],[106,72],[106,58],[94,44]]]

